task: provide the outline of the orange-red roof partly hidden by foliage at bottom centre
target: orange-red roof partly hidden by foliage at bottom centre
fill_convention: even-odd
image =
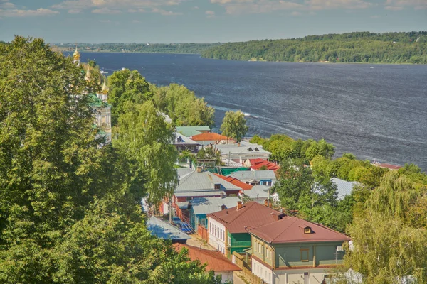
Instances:
[[[232,263],[222,253],[218,251],[208,251],[207,249],[199,249],[196,246],[189,246],[188,244],[173,244],[176,251],[181,251],[182,248],[189,250],[189,257],[192,261],[196,259],[201,264],[208,263],[206,271],[241,271],[241,268]]]

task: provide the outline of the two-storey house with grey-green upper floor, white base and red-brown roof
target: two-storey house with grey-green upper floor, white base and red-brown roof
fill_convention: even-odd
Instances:
[[[349,237],[290,216],[249,229],[252,273],[269,284],[322,283],[342,263]]]

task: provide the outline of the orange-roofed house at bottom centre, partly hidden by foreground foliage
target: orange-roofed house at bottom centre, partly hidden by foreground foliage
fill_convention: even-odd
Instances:
[[[186,244],[174,244],[174,248],[176,251],[186,248],[189,251],[191,261],[198,260],[201,264],[206,263],[206,272],[214,271],[215,276],[221,275],[221,283],[232,283],[234,273],[241,271],[241,268],[217,251],[209,251]]]

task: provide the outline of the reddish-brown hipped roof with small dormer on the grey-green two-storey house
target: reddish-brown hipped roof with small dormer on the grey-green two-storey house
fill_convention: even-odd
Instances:
[[[304,234],[304,228],[307,226],[311,228],[311,234]],[[276,222],[251,229],[250,233],[273,244],[350,240],[348,236],[327,226],[290,216],[285,216]]]

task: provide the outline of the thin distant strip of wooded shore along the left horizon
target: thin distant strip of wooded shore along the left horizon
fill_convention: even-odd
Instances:
[[[61,51],[72,51],[75,48],[72,43],[55,45]],[[220,43],[79,43],[78,48],[85,52],[200,54],[216,45]]]

